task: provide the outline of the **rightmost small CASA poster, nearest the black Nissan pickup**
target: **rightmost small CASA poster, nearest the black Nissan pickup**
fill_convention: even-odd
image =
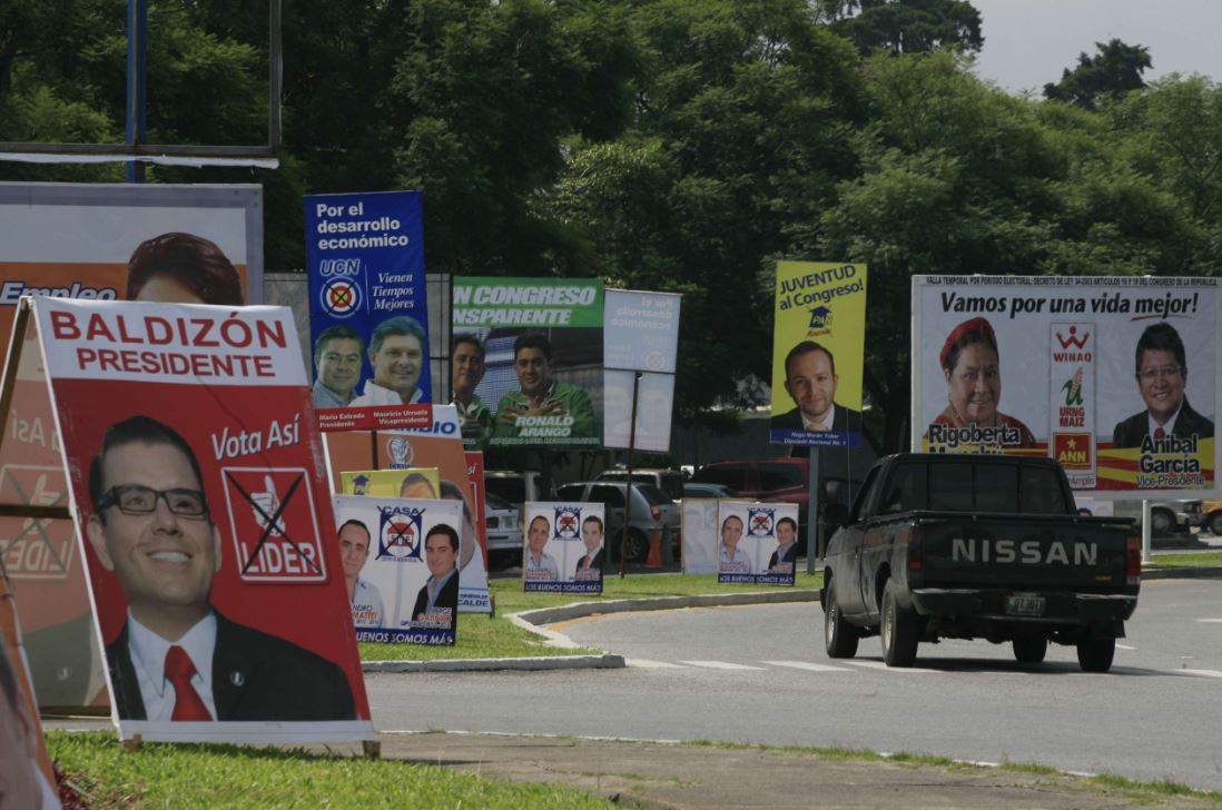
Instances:
[[[717,582],[792,585],[798,505],[717,501]]]

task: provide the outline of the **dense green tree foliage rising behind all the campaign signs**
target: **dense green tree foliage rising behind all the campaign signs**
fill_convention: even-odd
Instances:
[[[0,140],[121,142],[123,0],[0,10]],[[152,0],[149,130],[259,143],[266,9]],[[679,418],[755,404],[778,258],[870,265],[869,431],[902,447],[915,272],[1216,275],[1222,88],[1114,40],[1048,100],[981,82],[963,0],[295,0],[266,265],[301,195],[420,188],[426,266],[684,293]],[[1061,100],[1057,100],[1061,99]],[[115,165],[0,162],[2,180]]]

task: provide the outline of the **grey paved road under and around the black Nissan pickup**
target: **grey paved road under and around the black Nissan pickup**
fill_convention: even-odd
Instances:
[[[887,670],[822,651],[818,605],[697,608],[567,623],[620,671],[368,677],[380,729],[844,745],[1173,779],[1222,790],[1222,582],[1160,580],[1110,674],[1070,648],[921,645]]]

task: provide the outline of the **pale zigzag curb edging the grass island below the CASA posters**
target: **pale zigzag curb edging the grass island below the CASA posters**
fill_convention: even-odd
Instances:
[[[716,607],[720,605],[766,605],[780,602],[816,602],[818,590],[759,591],[748,594],[706,594],[701,596],[654,596],[650,599],[617,599],[609,602],[576,602],[561,607],[540,607],[511,613],[508,619],[518,627],[543,635],[549,646],[576,648],[567,635],[549,630],[541,624],[565,622],[602,613],[629,611],[661,611],[681,607]],[[495,672],[513,670],[538,672],[545,670],[622,670],[622,655],[556,655],[521,659],[441,659],[437,661],[363,661],[363,672]]]

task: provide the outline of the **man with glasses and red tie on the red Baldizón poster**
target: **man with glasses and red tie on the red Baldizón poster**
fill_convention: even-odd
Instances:
[[[89,542],[128,602],[106,646],[121,718],[356,717],[338,666],[213,607],[221,536],[199,462],[177,431],[143,415],[111,425],[89,468]]]

